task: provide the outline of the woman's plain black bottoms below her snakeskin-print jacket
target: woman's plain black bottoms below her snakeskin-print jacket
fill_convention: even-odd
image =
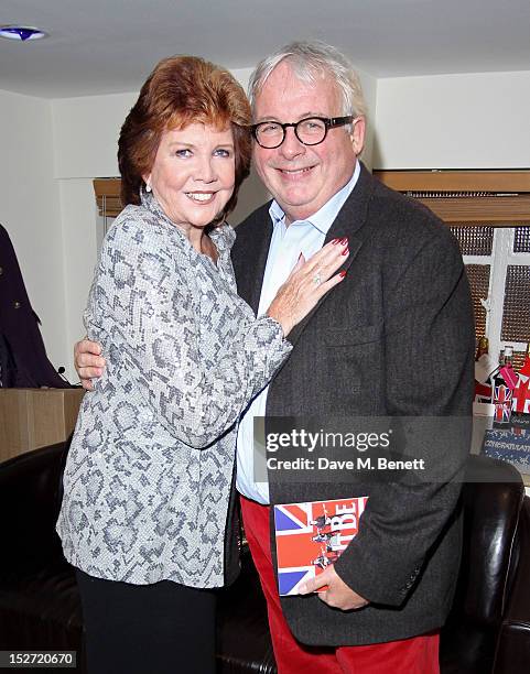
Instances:
[[[214,674],[215,594],[77,569],[89,674]]]

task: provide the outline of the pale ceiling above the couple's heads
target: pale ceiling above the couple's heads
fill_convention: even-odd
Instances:
[[[252,67],[320,39],[375,77],[530,70],[530,0],[0,0],[0,89],[44,98],[137,91],[153,65],[197,54]]]

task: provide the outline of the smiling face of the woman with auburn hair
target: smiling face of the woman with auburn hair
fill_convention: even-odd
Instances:
[[[197,123],[164,131],[143,180],[175,225],[203,228],[231,197],[235,167],[231,130]]]

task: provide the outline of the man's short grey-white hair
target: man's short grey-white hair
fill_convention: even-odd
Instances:
[[[340,95],[343,116],[366,116],[366,104],[359,76],[344,54],[321,41],[291,42],[271,56],[263,58],[256,66],[248,85],[252,112],[256,107],[256,98],[268,77],[285,59],[289,59],[290,68],[302,81],[314,84],[317,79],[331,77]]]

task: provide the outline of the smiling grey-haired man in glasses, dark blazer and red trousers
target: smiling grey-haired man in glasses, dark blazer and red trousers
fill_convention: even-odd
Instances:
[[[259,481],[253,417],[469,414],[474,330],[458,247],[429,210],[358,161],[365,104],[336,50],[283,47],[256,68],[250,99],[255,167],[273,200],[237,229],[240,295],[260,314],[301,254],[333,239],[349,247],[346,279],[290,335],[289,361],[238,432],[237,488],[279,672],[435,674],[459,562],[458,487],[386,483],[368,493],[346,471],[338,487],[317,477],[281,482],[273,471]],[[76,349],[84,379],[99,372],[87,366],[104,362],[90,349]],[[446,447],[456,463],[465,449]],[[280,598],[269,503],[354,496],[368,496],[356,539],[301,588],[304,596]]]

